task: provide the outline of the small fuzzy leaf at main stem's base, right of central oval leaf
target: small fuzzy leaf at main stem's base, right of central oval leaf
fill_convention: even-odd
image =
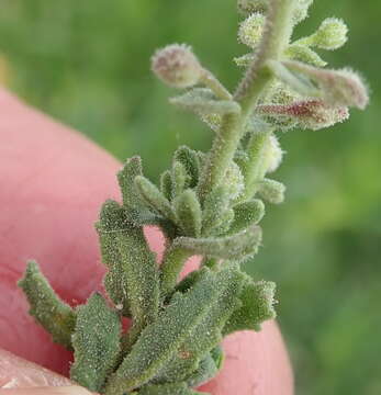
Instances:
[[[221,226],[224,221],[222,213],[228,210],[229,187],[226,184],[214,188],[205,198],[202,212],[202,234],[210,235],[211,230]]]

